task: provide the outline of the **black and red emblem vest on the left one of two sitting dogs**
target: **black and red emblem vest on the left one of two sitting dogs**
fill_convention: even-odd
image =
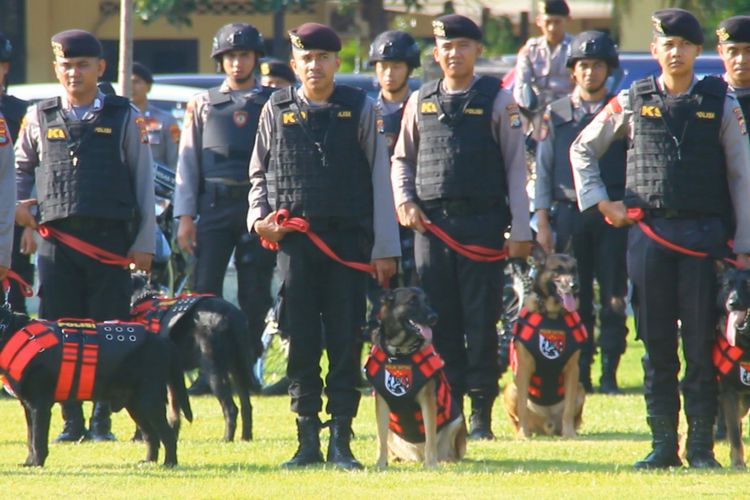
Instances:
[[[432,378],[437,378],[437,430],[461,416],[451,397],[445,363],[435,348],[428,345],[411,355],[390,357],[377,345],[365,363],[365,374],[375,391],[388,403],[388,427],[409,443],[424,443],[424,419],[417,393]]]

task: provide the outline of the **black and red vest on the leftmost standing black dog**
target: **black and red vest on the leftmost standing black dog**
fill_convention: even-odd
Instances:
[[[0,370],[19,392],[32,368],[57,373],[55,401],[87,401],[103,390],[138,349],[147,333],[143,325],[90,319],[31,321],[15,332],[0,350]]]

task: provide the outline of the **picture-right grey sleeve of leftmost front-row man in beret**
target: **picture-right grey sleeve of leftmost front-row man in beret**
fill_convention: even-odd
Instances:
[[[140,224],[135,241],[130,247],[131,252],[155,252],[156,215],[154,214],[154,160],[151,157],[151,147],[148,145],[145,124],[136,122],[138,111],[131,108],[128,122],[123,134],[123,160],[130,169],[133,180],[136,204]]]

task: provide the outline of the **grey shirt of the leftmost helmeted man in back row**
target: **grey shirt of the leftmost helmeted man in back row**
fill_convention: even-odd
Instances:
[[[258,82],[250,89],[232,90],[226,80],[219,92],[235,97],[250,97],[262,90]],[[203,127],[208,116],[208,90],[193,96],[188,102],[182,124],[182,136],[177,155],[177,176],[175,179],[174,216],[198,214],[198,187],[201,183],[201,155],[203,151]],[[248,146],[253,138],[248,137]]]

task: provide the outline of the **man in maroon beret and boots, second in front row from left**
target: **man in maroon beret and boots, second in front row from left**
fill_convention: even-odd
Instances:
[[[320,356],[329,369],[325,392],[331,415],[327,461],[344,469],[362,465],[350,449],[360,394],[356,331],[364,325],[367,275],[335,262],[302,233],[274,222],[287,209],[340,257],[371,261],[378,282],[396,271],[398,228],[388,178],[385,138],[371,99],[334,83],[341,40],[328,26],[305,23],[289,33],[292,68],[302,82],[278,91],[263,110],[250,163],[248,227],[279,241],[282,275],[280,327],[289,335],[287,375],[299,447],[284,467],[323,461]],[[323,334],[325,331],[325,334]]]

